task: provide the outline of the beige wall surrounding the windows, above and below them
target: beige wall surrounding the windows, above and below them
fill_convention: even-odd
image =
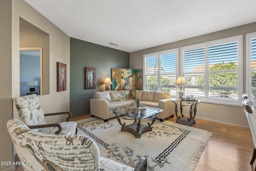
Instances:
[[[188,30],[189,31],[189,30]],[[221,30],[218,32],[197,36],[194,38],[188,38],[161,46],[156,46],[137,52],[130,53],[130,68],[138,69],[143,68],[143,55],[153,52],[160,52],[163,50],[169,50],[173,48],[180,48],[182,46],[188,46],[192,44],[198,44],[202,42],[208,42],[211,40],[218,40],[222,38],[228,38],[232,36],[243,35],[243,92],[245,92],[245,61],[246,61],[246,34],[256,32],[256,22]],[[185,109],[186,110],[186,109]],[[188,113],[188,112],[187,112]],[[225,123],[229,125],[235,125],[240,127],[248,127],[246,116],[244,115],[243,107],[232,105],[218,105],[211,103],[200,103],[196,113],[197,118]]]

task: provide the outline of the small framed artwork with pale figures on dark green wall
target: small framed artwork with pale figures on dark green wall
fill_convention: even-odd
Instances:
[[[96,89],[96,68],[85,68],[85,89]]]

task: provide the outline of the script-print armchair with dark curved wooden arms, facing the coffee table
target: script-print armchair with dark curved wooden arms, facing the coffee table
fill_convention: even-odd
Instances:
[[[20,120],[28,125],[30,129],[47,134],[76,134],[76,122],[69,121],[71,117],[70,112],[47,113],[44,114],[38,96],[36,94],[25,95],[14,98],[14,103],[18,111]],[[68,115],[66,122],[46,124],[45,116],[52,115]]]

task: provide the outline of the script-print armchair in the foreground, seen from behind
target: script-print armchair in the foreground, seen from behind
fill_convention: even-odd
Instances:
[[[141,157],[136,168],[100,157],[96,143],[84,135],[44,134],[18,119],[7,129],[25,171],[146,171]]]

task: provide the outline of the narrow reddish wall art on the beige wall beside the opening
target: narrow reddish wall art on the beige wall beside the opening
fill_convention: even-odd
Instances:
[[[57,62],[57,91],[67,90],[67,64]]]

